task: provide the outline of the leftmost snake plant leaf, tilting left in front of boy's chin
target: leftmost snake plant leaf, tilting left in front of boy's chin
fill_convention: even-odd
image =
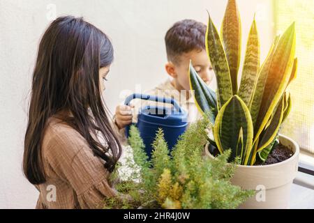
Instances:
[[[190,90],[194,91],[194,99],[197,109],[209,114],[209,121],[214,125],[217,115],[216,93],[205,84],[205,82],[197,75],[197,72],[190,63],[189,68]]]

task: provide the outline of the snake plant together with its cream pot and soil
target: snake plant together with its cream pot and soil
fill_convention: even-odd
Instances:
[[[209,16],[206,49],[217,91],[204,84],[193,66],[189,71],[197,107],[209,116],[205,153],[214,158],[215,153],[231,149],[229,161],[239,157],[232,183],[257,190],[241,208],[287,208],[290,186],[297,174],[299,146],[278,131],[291,109],[287,86],[297,72],[294,23],[276,37],[260,66],[254,18],[239,87],[241,22],[235,0],[227,3],[220,33]]]

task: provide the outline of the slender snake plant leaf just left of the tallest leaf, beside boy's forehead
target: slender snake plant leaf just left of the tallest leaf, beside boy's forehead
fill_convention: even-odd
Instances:
[[[230,71],[225,56],[225,51],[221,43],[216,26],[211,21],[209,22],[206,31],[206,51],[211,61],[211,66],[214,68],[217,81],[217,101],[218,109],[232,97],[232,84],[230,78]]]

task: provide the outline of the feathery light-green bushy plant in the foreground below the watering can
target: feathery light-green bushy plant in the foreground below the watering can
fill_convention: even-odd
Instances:
[[[255,191],[230,183],[235,168],[226,161],[230,152],[216,159],[202,156],[207,124],[204,118],[191,125],[171,154],[159,130],[151,160],[140,132],[131,126],[128,142],[133,153],[124,163],[128,171],[114,174],[121,179],[117,191],[127,196],[106,199],[105,208],[237,208],[252,197]]]

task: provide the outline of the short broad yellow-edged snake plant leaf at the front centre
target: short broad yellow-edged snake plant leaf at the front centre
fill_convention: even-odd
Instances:
[[[231,148],[231,160],[239,156],[242,157],[241,164],[248,164],[252,150],[253,124],[248,107],[238,95],[233,95],[218,112],[214,139],[220,153]]]

